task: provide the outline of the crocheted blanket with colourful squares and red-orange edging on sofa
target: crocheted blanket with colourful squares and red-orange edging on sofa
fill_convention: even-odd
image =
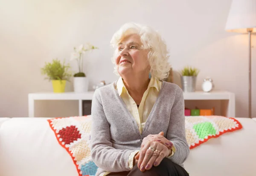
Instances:
[[[48,119],[59,144],[72,157],[79,176],[93,176],[97,166],[90,156],[90,116]],[[195,148],[211,138],[242,128],[234,118],[224,116],[186,116],[186,139]]]

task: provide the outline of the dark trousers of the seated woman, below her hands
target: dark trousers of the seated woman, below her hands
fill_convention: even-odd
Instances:
[[[186,170],[170,159],[164,158],[160,165],[144,172],[135,165],[131,171],[110,173],[108,176],[189,176]]]

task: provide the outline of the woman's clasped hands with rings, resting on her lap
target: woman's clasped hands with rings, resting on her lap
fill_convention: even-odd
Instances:
[[[139,153],[134,157],[135,163],[141,171],[150,170],[172,153],[172,142],[159,134],[150,134],[143,139]]]

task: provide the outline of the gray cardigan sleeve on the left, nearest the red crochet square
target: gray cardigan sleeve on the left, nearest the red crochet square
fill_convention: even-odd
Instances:
[[[111,143],[110,125],[102,106],[100,91],[96,89],[91,108],[91,157],[93,162],[108,172],[131,170],[128,159],[135,150],[115,149]]]

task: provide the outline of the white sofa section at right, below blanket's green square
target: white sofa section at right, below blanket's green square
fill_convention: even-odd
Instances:
[[[255,176],[256,122],[236,118],[243,128],[190,150],[184,167],[191,176]]]

